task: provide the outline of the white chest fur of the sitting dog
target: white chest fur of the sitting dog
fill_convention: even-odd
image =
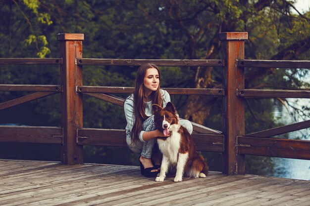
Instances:
[[[178,162],[180,141],[181,135],[178,132],[171,132],[170,137],[166,140],[157,139],[159,150],[169,159],[169,162],[171,163]]]

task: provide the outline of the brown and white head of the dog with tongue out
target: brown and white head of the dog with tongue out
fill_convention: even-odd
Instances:
[[[175,110],[174,105],[168,102],[166,107],[162,108],[157,104],[152,105],[152,113],[154,114],[154,122],[156,129],[167,135],[172,127],[177,126],[179,123],[179,117]]]

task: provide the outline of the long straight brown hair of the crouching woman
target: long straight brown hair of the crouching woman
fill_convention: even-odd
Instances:
[[[155,68],[159,75],[159,84],[156,91],[152,91],[152,104],[158,104],[162,106],[162,97],[160,94],[160,71],[155,64],[145,64],[139,67],[136,75],[136,85],[134,91],[134,125],[131,130],[131,140],[139,141],[139,133],[142,131],[143,122],[149,117],[145,114],[146,103],[144,102],[144,77],[147,70],[150,68]]]

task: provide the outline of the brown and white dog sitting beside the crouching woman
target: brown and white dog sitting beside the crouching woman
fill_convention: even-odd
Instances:
[[[208,166],[202,155],[196,151],[195,143],[185,127],[180,125],[174,105],[168,102],[165,108],[152,105],[156,129],[169,137],[158,137],[157,143],[162,153],[162,162],[156,182],[162,182],[169,170],[176,168],[175,182],[187,177],[206,177]]]

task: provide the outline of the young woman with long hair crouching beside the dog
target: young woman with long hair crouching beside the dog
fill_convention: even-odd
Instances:
[[[167,91],[160,89],[160,72],[156,65],[141,66],[136,75],[134,93],[124,102],[124,112],[127,121],[126,141],[128,147],[140,154],[139,162],[141,174],[146,177],[155,177],[160,169],[160,153],[156,144],[156,137],[168,137],[155,129],[152,104],[162,107],[170,102]],[[180,124],[192,133],[193,126],[187,120]]]

